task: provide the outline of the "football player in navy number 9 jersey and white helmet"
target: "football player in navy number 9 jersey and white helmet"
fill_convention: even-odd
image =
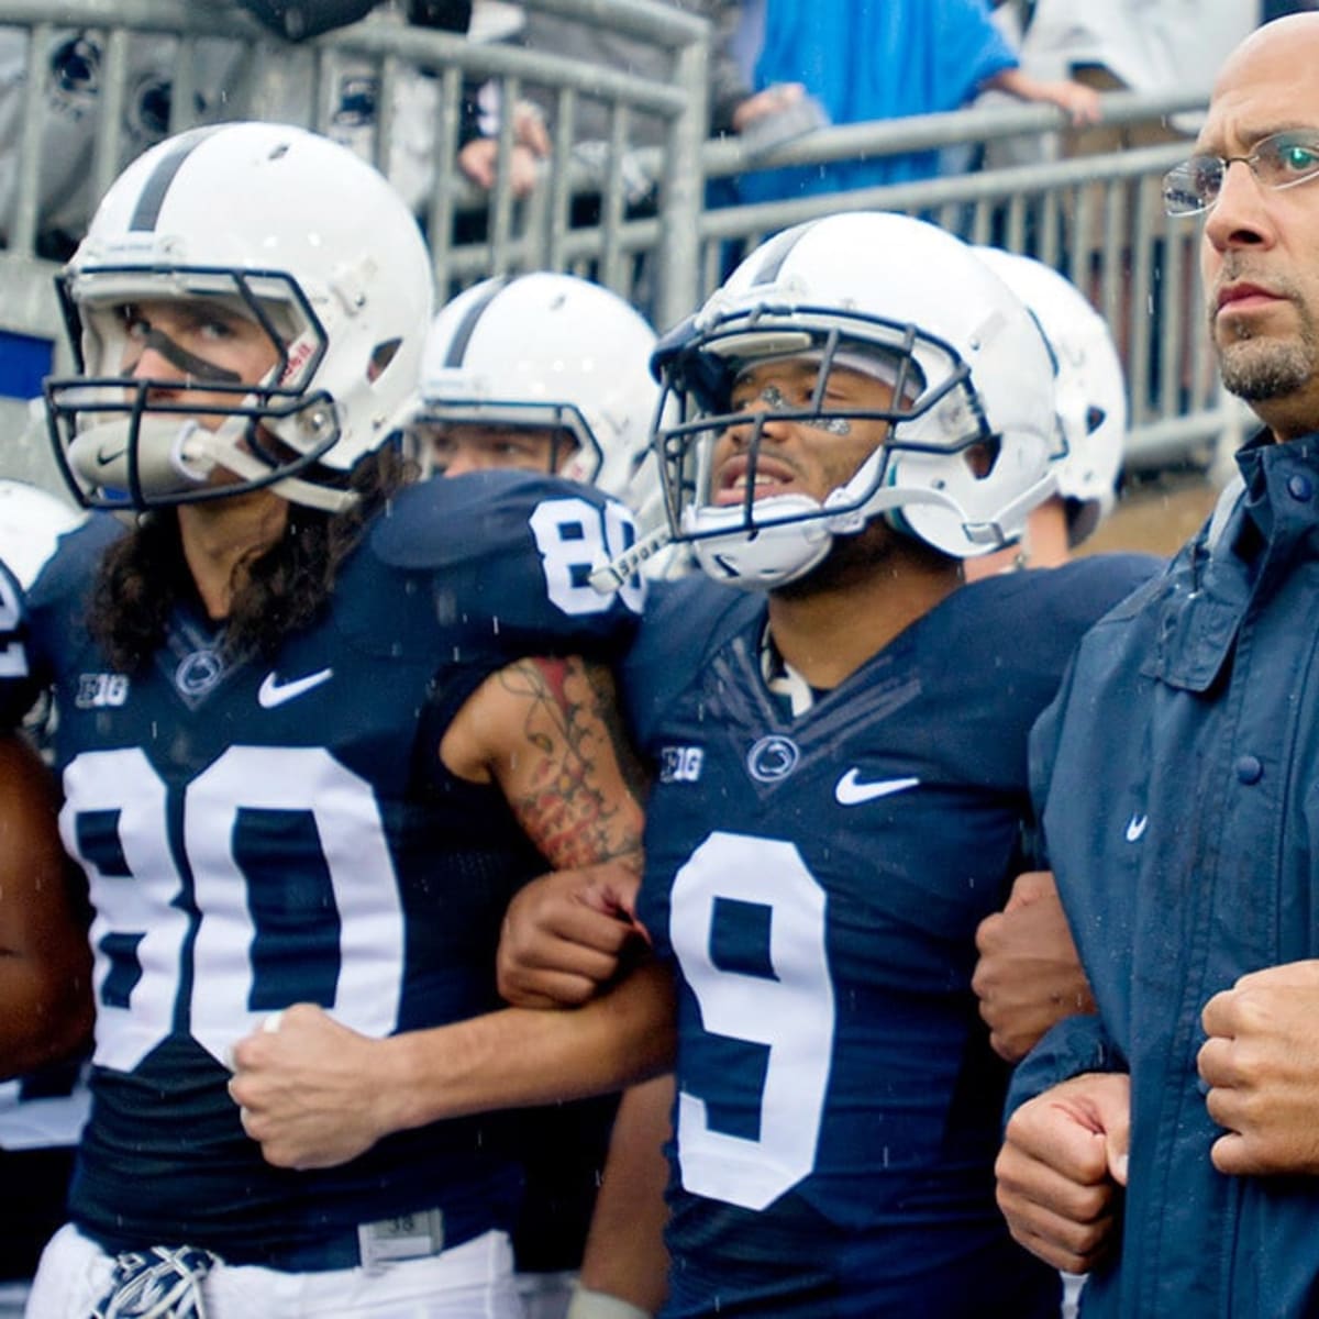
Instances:
[[[1016,873],[1028,731],[1151,565],[963,588],[1054,488],[1053,365],[931,226],[777,235],[656,364],[674,534],[739,588],[677,584],[625,670],[656,776],[638,915],[678,983],[663,1314],[1057,1314],[995,1206],[973,936]],[[508,993],[611,969],[582,906],[520,896]],[[574,1315],[645,1312],[645,1286],[600,1294],[594,1246]]]

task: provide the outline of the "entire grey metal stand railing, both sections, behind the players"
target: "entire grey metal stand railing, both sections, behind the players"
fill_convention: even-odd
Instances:
[[[489,273],[566,269],[629,297],[663,328],[719,284],[740,251],[786,224],[840,208],[923,215],[971,241],[1029,252],[1070,274],[1113,328],[1130,389],[1129,463],[1207,462],[1212,455],[1229,417],[1199,310],[1199,227],[1170,224],[1158,198],[1158,181],[1184,145],[710,206],[711,183],[735,182],[753,168],[948,148],[976,157],[995,142],[1047,140],[1062,117],[1049,107],[1008,104],[826,128],[752,156],[735,137],[704,138],[704,22],[657,0],[528,0],[526,7],[607,22],[662,50],[663,73],[636,77],[563,53],[413,28],[388,7],[350,28],[289,45],[228,0],[0,0],[0,33],[8,29],[12,40],[18,32],[26,51],[17,86],[13,78],[5,84],[0,62],[0,129],[5,98],[16,120],[8,166],[0,161],[0,331],[54,343],[57,364],[67,365],[50,289],[53,236],[45,227],[53,210],[51,169],[59,165],[51,158],[53,133],[57,145],[71,138],[84,153],[73,181],[80,193],[73,204],[67,197],[57,199],[66,231],[54,237],[73,240],[79,198],[90,210],[152,131],[162,136],[194,123],[281,119],[338,136],[400,183],[426,230],[442,295]],[[50,58],[70,33],[91,33],[99,59],[78,132],[69,115],[79,90],[53,87]],[[144,124],[148,116],[135,98],[152,91],[161,70],[168,113]],[[551,150],[529,197],[514,195],[506,168],[489,193],[454,168],[464,96],[480,83],[493,87],[503,106],[533,88],[549,103]],[[1161,121],[1196,111],[1203,100],[1109,94],[1104,123]],[[604,107],[608,121],[603,157],[591,166],[572,140],[584,104]],[[642,121],[661,125],[661,145],[637,145]],[[500,117],[497,132],[500,160],[506,161],[512,116]],[[646,191],[641,206],[638,174]],[[594,203],[588,218],[579,206],[586,195]],[[13,405],[8,412],[0,405],[0,423],[13,429],[17,415]]]

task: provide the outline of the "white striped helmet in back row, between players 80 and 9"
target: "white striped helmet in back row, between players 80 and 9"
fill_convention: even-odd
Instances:
[[[645,318],[590,280],[547,270],[483,280],[435,317],[417,419],[565,430],[576,447],[558,474],[644,518],[660,506],[654,346]]]

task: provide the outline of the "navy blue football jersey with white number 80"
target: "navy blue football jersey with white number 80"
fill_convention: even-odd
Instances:
[[[640,583],[604,598],[586,578],[630,534],[620,505],[567,483],[426,483],[269,660],[227,661],[181,608],[132,674],[83,621],[102,541],[66,539],[29,596],[30,677],[0,690],[13,716],[53,685],[61,830],[95,907],[92,1111],[70,1198],[83,1231],[317,1268],[327,1233],[412,1211],[442,1208],[467,1235],[508,1225],[518,1179],[492,1122],[274,1169],[241,1129],[226,1058],[297,1001],[375,1037],[499,1006],[500,918],[543,861],[497,787],[445,770],[439,743],[513,660],[627,645]]]

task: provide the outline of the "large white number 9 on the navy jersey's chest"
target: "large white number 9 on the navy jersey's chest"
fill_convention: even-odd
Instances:
[[[769,909],[772,977],[715,966],[716,904]],[[815,1166],[834,1049],[826,893],[791,843],[715,832],[678,872],[669,935],[711,1035],[765,1045],[760,1136],[712,1130],[704,1100],[678,1093],[678,1162],[695,1195],[762,1210]]]

